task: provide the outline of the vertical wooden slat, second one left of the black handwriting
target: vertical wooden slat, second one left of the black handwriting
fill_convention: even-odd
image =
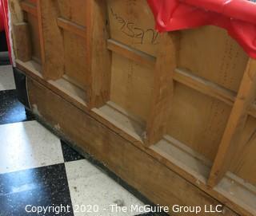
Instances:
[[[64,46],[62,30],[58,27],[57,1],[38,0],[38,26],[42,56],[42,75],[57,80],[64,74]]]

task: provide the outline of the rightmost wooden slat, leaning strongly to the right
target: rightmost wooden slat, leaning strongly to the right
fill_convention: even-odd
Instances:
[[[230,113],[226,129],[222,136],[222,141],[218,147],[217,155],[210,172],[208,184],[214,187],[225,175],[230,167],[230,159],[239,141],[242,129],[246,124],[248,116],[247,109],[255,100],[256,96],[256,61],[250,59],[246,66],[246,71],[238,91],[238,96],[234,101],[234,106]]]

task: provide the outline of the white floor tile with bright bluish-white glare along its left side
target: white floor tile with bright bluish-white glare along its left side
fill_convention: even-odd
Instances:
[[[0,125],[0,174],[63,162],[60,140],[37,121]]]

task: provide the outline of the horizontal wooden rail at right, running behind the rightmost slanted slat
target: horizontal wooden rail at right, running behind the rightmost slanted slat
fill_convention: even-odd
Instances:
[[[174,81],[185,84],[186,86],[197,90],[207,96],[212,96],[218,100],[221,100],[225,104],[233,106],[236,98],[236,92],[223,88],[218,84],[214,84],[211,81],[207,81],[202,77],[195,76],[186,69],[175,69]],[[248,109],[248,114],[256,118],[256,105],[251,104]]]

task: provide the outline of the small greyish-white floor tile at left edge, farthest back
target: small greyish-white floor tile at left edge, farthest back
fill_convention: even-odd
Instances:
[[[16,88],[12,70],[11,65],[0,66],[0,91]]]

